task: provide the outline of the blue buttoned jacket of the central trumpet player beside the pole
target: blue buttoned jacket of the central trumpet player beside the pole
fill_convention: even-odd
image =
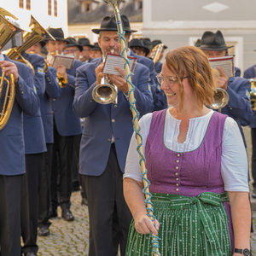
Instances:
[[[76,91],[73,102],[74,112],[84,118],[84,131],[80,144],[79,172],[84,175],[99,176],[104,172],[111,148],[112,134],[119,167],[125,171],[125,159],[128,151],[132,128],[130,104],[122,91],[118,93],[118,107],[113,104],[102,105],[92,99],[92,90],[96,86],[95,68],[102,63],[97,59],[77,70]],[[149,70],[137,63],[131,78],[135,86],[134,96],[140,115],[151,112],[153,99],[149,86]]]

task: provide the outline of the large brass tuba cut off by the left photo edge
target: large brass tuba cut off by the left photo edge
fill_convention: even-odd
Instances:
[[[15,26],[9,20],[6,20],[3,16],[10,16],[17,20],[14,15],[11,15],[8,11],[0,9],[0,49],[3,49],[4,45],[9,42],[15,34],[22,32],[20,27]],[[4,85],[6,86],[4,87]],[[12,112],[15,102],[15,77],[10,74],[10,79],[5,78],[5,73],[2,73],[0,82],[0,104],[2,111],[0,113],[0,130],[7,125],[10,114]]]

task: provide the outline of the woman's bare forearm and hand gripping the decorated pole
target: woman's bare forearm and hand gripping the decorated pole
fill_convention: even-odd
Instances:
[[[145,196],[143,194],[143,183],[139,183],[134,179],[125,177],[124,179],[124,195],[125,201],[130,208],[132,217],[134,218],[135,228],[140,234],[157,235],[159,230],[159,222],[155,219],[154,224],[147,215],[145,205]]]

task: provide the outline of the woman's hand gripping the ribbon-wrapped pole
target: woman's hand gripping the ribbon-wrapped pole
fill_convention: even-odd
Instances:
[[[138,213],[136,216],[134,216],[134,221],[135,229],[137,230],[138,233],[150,234],[152,232],[154,235],[158,234],[160,224],[157,219],[154,219],[154,226],[153,222],[148,217],[148,215],[143,212]]]

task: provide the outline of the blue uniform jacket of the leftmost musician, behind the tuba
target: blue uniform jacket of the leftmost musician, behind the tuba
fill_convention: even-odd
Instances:
[[[18,61],[10,60],[4,55],[5,61],[16,64],[19,81],[15,83],[15,103],[9,122],[0,131],[0,175],[20,175],[25,173],[25,144],[23,137],[22,112],[34,115],[38,112],[39,99],[34,90],[32,69]],[[2,75],[2,69],[0,69]],[[4,83],[5,84],[5,83]],[[5,91],[2,93],[4,94]],[[0,102],[3,106],[3,102]],[[2,108],[1,108],[2,109]]]

